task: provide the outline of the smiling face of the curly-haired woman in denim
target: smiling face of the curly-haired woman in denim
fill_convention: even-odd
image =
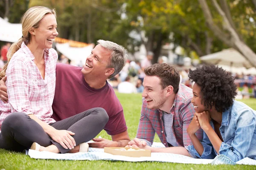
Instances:
[[[201,97],[201,87],[198,84],[193,85],[193,98],[191,99],[191,102],[194,105],[195,112],[202,113],[203,111],[207,111],[208,109],[202,104],[204,101],[202,101]]]

